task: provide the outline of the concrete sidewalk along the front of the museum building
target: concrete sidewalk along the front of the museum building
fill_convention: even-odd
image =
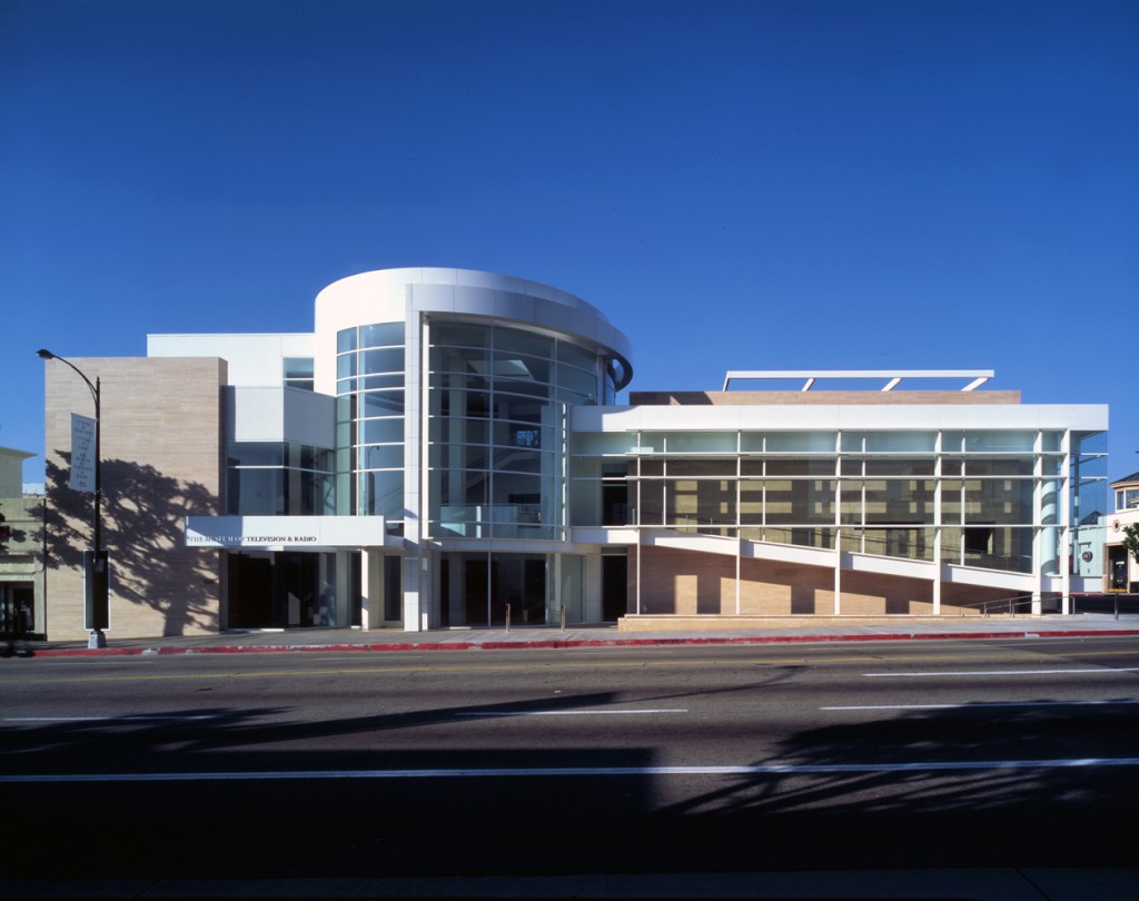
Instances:
[[[107,656],[139,654],[237,654],[249,652],[501,650],[574,647],[645,647],[671,645],[763,645],[817,641],[974,640],[984,638],[1088,638],[1139,636],[1139,612],[1080,613],[1068,616],[1017,615],[983,617],[772,617],[748,619],[746,626],[629,631],[616,625],[507,629],[441,629],[403,632],[395,629],[293,629],[221,632],[212,636],[162,636],[117,639],[107,631],[107,647],[89,649],[81,641],[30,642],[36,656]]]

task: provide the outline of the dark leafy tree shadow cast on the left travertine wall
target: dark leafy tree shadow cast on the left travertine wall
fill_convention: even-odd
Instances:
[[[44,566],[83,566],[91,546],[95,495],[67,486],[71,453],[47,461]],[[187,548],[187,516],[215,516],[218,497],[199,482],[163,475],[129,460],[103,460],[103,543],[110,563],[112,609],[116,601],[162,614],[163,634],[188,628],[218,629],[216,551]]]

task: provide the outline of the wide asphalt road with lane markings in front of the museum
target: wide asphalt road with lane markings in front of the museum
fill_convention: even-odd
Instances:
[[[0,661],[7,877],[1139,865],[1133,638]]]

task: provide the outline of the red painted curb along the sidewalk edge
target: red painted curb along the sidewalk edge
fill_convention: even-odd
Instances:
[[[196,648],[44,648],[36,657],[101,657],[194,654],[271,654],[378,650],[556,650],[559,648],[654,647],[672,645],[790,645],[835,641],[969,641],[999,638],[1099,638],[1139,636],[1139,629],[1079,629],[1067,631],[1024,630],[1018,632],[891,632],[887,634],[841,636],[732,636],[716,638],[616,638],[616,639],[541,639],[538,641],[386,641],[375,645],[213,645]]]

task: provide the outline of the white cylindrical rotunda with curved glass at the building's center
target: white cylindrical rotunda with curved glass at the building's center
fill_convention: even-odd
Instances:
[[[567,411],[612,403],[630,357],[584,301],[506,276],[395,269],[320,293],[314,385],[336,396],[337,513],[382,516],[387,532],[362,562],[364,596],[384,598],[371,624],[588,617]]]

